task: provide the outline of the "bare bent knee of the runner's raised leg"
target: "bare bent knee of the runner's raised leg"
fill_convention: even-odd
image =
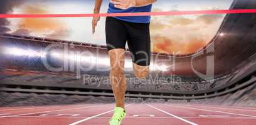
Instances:
[[[149,66],[139,66],[134,64],[134,74],[137,78],[146,78],[149,74]]]

